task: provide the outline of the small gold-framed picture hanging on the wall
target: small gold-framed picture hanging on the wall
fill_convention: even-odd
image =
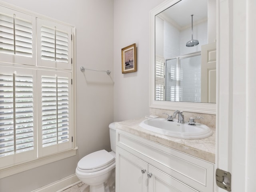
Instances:
[[[137,71],[136,43],[122,48],[122,73]]]

